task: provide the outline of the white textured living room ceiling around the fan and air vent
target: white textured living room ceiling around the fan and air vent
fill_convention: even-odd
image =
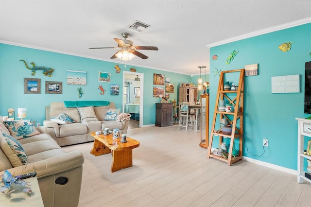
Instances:
[[[207,45],[301,19],[311,19],[311,0],[0,0],[0,42],[110,59],[115,38],[130,33],[139,52],[127,64],[185,74],[209,70]],[[151,25],[143,32],[128,26]]]

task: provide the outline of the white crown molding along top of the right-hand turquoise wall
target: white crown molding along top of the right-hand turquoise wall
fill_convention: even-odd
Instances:
[[[230,42],[235,42],[235,41],[238,41],[238,40],[247,39],[247,38],[250,38],[250,37],[254,37],[254,36],[258,36],[258,35],[263,35],[263,34],[267,34],[267,33],[272,33],[272,32],[276,32],[278,30],[284,30],[284,29],[295,27],[295,26],[299,26],[299,25],[302,25],[302,24],[307,24],[307,23],[310,23],[310,22],[311,22],[311,17],[308,17],[308,18],[297,20],[297,21],[289,22],[289,23],[286,23],[286,24],[277,25],[275,27],[269,27],[269,28],[266,28],[266,29],[262,29],[262,30],[258,30],[258,31],[252,32],[252,33],[247,33],[247,34],[244,34],[244,35],[240,35],[240,36],[232,37],[232,38],[229,38],[229,39],[225,39],[225,40],[222,40],[222,41],[219,41],[219,42],[211,43],[211,44],[208,44],[207,47],[208,48],[212,48],[212,47],[216,47],[216,46],[219,46],[219,45],[224,45],[224,44],[227,44],[227,43],[230,43]]]

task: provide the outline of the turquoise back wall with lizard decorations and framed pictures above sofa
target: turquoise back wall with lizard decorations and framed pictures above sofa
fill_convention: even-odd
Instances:
[[[25,60],[29,66],[30,62],[35,62],[36,66],[51,67],[55,71],[52,77],[44,76],[42,70],[32,76],[31,70],[26,69],[24,63],[19,61],[20,59]],[[25,107],[27,108],[27,119],[42,124],[42,121],[45,120],[45,106],[51,102],[104,100],[114,102],[116,108],[122,108],[121,91],[118,96],[110,95],[110,85],[119,84],[120,89],[122,88],[122,71],[129,71],[132,67],[129,63],[125,68],[121,63],[0,44],[0,115],[7,116],[7,109],[14,108],[15,119],[17,119],[17,108]],[[115,65],[119,65],[121,68],[120,73],[116,73]],[[179,84],[191,82],[191,76],[136,66],[134,68],[137,69],[137,72],[144,73],[143,125],[155,124],[155,103],[158,103],[160,99],[153,97],[153,74],[164,74],[165,77],[170,78],[170,84],[174,85],[174,93],[170,94],[170,100],[177,99]],[[77,90],[80,86],[67,85],[67,70],[86,71],[86,86],[81,86],[84,93],[81,98],[79,98]],[[111,82],[99,82],[99,71],[110,72]],[[24,78],[41,79],[41,93],[24,94]],[[45,94],[45,81],[62,82],[63,93]],[[99,85],[106,90],[104,95],[100,95]]]

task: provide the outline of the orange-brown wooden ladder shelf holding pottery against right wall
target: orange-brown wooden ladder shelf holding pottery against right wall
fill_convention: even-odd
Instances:
[[[228,81],[231,78],[231,75],[232,77],[239,78],[237,90],[224,89],[225,81]],[[213,157],[225,161],[229,166],[238,160],[242,160],[244,77],[245,77],[244,69],[227,70],[221,72],[212,122],[211,138],[209,139],[208,144],[207,157],[208,158]],[[218,106],[220,100],[225,100],[226,102],[225,105],[231,104],[232,106],[234,106],[234,111],[233,112],[219,111]],[[220,132],[215,131],[220,130],[220,128],[219,129],[217,128],[219,127],[219,125],[216,126],[216,121],[217,120],[220,121],[221,119],[226,119],[228,121],[228,125],[232,126],[231,134],[225,134],[221,131]],[[223,142],[224,138],[230,138],[229,153],[225,154],[228,158],[226,158],[225,156],[214,155],[213,152],[211,152],[213,139],[217,136],[219,137],[219,145]],[[232,156],[235,140],[239,140],[239,150],[237,150],[238,152],[236,156]]]

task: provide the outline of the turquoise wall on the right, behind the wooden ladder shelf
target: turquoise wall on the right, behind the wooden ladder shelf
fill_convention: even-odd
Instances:
[[[294,42],[290,51],[278,49],[278,45],[284,42]],[[226,65],[233,50],[239,53]],[[210,123],[219,83],[219,76],[214,76],[213,71],[259,64],[257,76],[245,77],[243,156],[297,169],[295,118],[310,116],[304,114],[305,62],[311,61],[310,52],[311,23],[210,48]],[[212,60],[213,55],[218,59]],[[271,77],[294,74],[300,76],[300,93],[271,93]],[[216,126],[219,128],[218,124]],[[268,139],[269,146],[264,148],[262,156],[253,156],[263,153],[263,138]],[[218,144],[218,138],[215,138],[213,147]]]

